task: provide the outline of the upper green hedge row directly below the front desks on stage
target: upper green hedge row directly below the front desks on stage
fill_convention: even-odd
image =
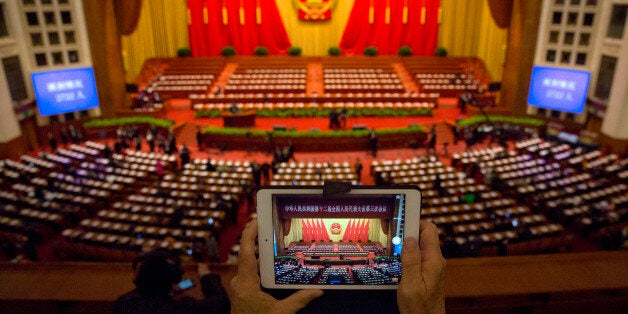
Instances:
[[[329,109],[301,108],[301,109],[260,109],[255,115],[263,118],[324,118],[329,116]],[[349,117],[413,117],[432,116],[432,109],[390,109],[390,108],[364,108],[349,109]],[[217,118],[221,112],[218,109],[196,111],[197,118]]]

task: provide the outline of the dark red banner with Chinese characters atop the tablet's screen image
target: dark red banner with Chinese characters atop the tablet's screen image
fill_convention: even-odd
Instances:
[[[340,196],[277,195],[275,206],[281,218],[384,218],[390,219],[394,195]]]

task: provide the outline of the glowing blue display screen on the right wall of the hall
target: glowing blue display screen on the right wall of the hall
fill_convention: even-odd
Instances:
[[[532,69],[528,104],[571,113],[582,113],[591,73],[535,66]]]

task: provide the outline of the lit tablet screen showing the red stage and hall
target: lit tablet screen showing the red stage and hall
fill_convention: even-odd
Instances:
[[[276,284],[396,285],[406,196],[273,195]]]

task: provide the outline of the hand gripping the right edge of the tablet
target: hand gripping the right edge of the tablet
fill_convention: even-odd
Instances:
[[[445,259],[433,223],[421,221],[419,241],[403,241],[399,312],[445,313]]]

